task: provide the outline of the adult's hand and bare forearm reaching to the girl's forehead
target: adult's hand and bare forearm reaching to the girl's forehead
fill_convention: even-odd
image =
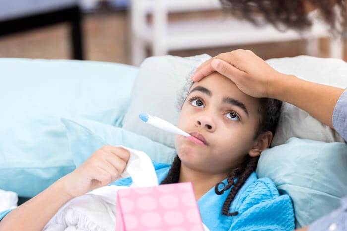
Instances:
[[[214,71],[231,79],[250,96],[286,101],[333,128],[334,107],[344,89],[279,73],[249,50],[222,53],[208,60],[197,69],[192,80],[199,81]]]

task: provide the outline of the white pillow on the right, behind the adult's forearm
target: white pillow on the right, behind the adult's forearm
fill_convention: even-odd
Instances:
[[[340,88],[347,87],[347,63],[340,59],[297,56],[274,58],[267,60],[267,63],[281,73],[293,74],[307,81]],[[284,102],[271,145],[284,144],[291,137],[328,143],[344,142],[335,130],[319,122],[306,111]]]

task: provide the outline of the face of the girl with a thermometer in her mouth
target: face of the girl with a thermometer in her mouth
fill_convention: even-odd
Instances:
[[[258,108],[258,99],[244,94],[219,73],[195,82],[182,106],[178,127],[205,141],[176,135],[182,164],[224,173],[247,155],[260,155],[259,140],[254,137],[260,120]]]

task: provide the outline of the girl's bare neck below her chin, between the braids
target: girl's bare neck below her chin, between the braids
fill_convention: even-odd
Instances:
[[[227,178],[228,173],[211,174],[193,170],[181,163],[179,182],[191,182],[195,192],[196,200],[199,200],[205,193],[216,184]]]

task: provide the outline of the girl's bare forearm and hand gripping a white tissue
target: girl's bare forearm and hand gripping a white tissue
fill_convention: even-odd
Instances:
[[[126,149],[102,147],[72,173],[7,214],[0,231],[41,231],[67,201],[118,179],[129,157]]]

